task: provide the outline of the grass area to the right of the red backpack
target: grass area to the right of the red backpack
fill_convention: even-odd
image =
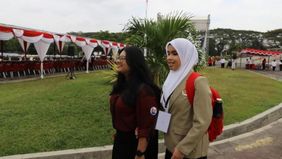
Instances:
[[[245,70],[207,69],[224,100],[225,125],[245,120],[282,102],[282,83]]]

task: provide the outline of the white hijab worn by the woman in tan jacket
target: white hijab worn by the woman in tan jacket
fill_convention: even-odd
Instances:
[[[174,39],[166,44],[166,54],[168,45],[172,45],[180,58],[180,67],[176,71],[170,70],[164,85],[161,103],[164,106],[168,97],[180,82],[198,63],[198,52],[194,44],[184,38]]]

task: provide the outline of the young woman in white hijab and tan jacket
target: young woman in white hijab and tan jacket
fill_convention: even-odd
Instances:
[[[203,76],[195,80],[193,107],[185,91],[186,80],[198,63],[198,52],[189,40],[177,38],[167,43],[166,55],[170,72],[163,85],[161,103],[170,118],[164,135],[165,159],[205,159],[212,118],[208,81]]]

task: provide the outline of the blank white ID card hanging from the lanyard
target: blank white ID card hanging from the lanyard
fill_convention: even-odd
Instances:
[[[159,130],[159,131],[162,131],[164,133],[167,133],[170,118],[171,118],[170,113],[167,113],[167,112],[164,112],[164,111],[159,111],[156,129]]]

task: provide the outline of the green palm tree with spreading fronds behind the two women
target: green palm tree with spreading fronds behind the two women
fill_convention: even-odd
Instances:
[[[147,61],[159,86],[168,73],[164,60],[166,43],[174,38],[189,38],[194,42],[198,36],[190,18],[183,12],[158,14],[156,21],[133,17],[124,28],[130,35],[128,44],[147,48]]]

